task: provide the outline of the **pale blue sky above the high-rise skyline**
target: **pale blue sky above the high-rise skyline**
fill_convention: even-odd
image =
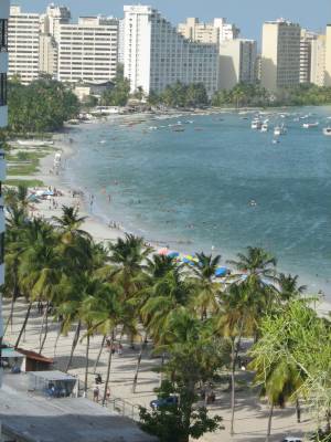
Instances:
[[[1,0],[0,0],[1,1]],[[50,0],[12,0],[29,11],[42,11]],[[122,17],[124,4],[135,4],[126,0],[61,0],[74,17],[107,14]],[[138,2],[137,2],[138,3]],[[311,30],[323,30],[331,22],[330,0],[153,0],[142,1],[158,8],[174,24],[185,17],[199,17],[210,20],[213,17],[226,17],[242,30],[242,36],[259,39],[261,23],[280,17],[299,22]]]

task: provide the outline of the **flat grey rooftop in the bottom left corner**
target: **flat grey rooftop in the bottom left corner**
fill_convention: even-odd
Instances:
[[[24,376],[24,375],[22,375]],[[19,375],[6,375],[0,390],[4,434],[26,442],[154,442],[131,420],[84,398],[32,397],[12,387]]]

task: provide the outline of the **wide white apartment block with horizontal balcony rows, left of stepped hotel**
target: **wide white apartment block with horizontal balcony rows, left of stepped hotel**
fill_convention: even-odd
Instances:
[[[77,24],[61,24],[57,80],[104,83],[117,70],[118,20],[83,17]]]

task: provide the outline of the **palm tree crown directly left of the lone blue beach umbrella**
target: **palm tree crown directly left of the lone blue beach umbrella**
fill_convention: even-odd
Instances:
[[[217,295],[220,283],[215,282],[215,272],[218,267],[221,255],[213,257],[204,253],[196,253],[196,261],[193,262],[192,271],[195,276],[196,295],[194,305],[201,311],[201,318],[205,319],[207,313],[215,313],[218,309]]]

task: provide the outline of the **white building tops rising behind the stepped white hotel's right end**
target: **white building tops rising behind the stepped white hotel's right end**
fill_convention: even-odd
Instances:
[[[178,31],[191,41],[200,43],[222,43],[237,39],[239,30],[226,19],[214,19],[213,23],[202,23],[199,19],[189,18],[178,25]]]

